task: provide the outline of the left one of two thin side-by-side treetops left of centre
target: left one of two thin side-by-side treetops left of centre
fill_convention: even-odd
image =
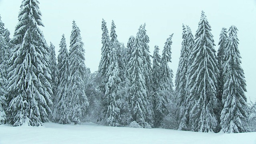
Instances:
[[[99,74],[102,76],[102,82],[100,84],[100,90],[105,94],[105,84],[108,82],[108,78],[106,77],[108,67],[110,65],[110,52],[111,52],[111,42],[110,37],[108,35],[108,28],[104,19],[102,19],[102,48],[101,48],[101,59],[98,68]]]

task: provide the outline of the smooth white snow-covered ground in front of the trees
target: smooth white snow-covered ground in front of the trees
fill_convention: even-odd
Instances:
[[[256,132],[215,134],[92,123],[41,127],[0,125],[0,144],[256,144]]]

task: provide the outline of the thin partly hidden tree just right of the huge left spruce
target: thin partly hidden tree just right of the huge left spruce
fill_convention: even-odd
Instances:
[[[56,60],[56,54],[55,54],[55,46],[50,42],[50,52],[49,52],[49,63],[50,63],[50,71],[52,80],[50,81],[50,84],[52,86],[52,102],[55,103],[55,100],[57,99],[57,83],[58,83],[58,67],[57,67],[57,60]]]

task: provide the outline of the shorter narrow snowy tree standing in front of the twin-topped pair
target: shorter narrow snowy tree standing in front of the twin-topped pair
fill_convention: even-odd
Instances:
[[[118,85],[121,82],[119,77],[119,66],[117,60],[117,48],[118,42],[114,40],[110,55],[110,66],[106,76],[108,82],[106,83],[105,99],[107,103],[107,122],[109,126],[119,126],[120,109],[116,104],[116,98],[118,98]]]

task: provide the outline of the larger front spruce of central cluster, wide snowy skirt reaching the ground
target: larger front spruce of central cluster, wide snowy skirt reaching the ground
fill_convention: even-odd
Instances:
[[[132,56],[129,61],[128,69],[130,78],[130,106],[132,119],[140,126],[147,127],[147,123],[153,124],[154,112],[150,106],[146,91],[146,78],[144,72],[144,58],[142,56],[142,36],[139,32],[136,35],[135,45],[132,50]]]

